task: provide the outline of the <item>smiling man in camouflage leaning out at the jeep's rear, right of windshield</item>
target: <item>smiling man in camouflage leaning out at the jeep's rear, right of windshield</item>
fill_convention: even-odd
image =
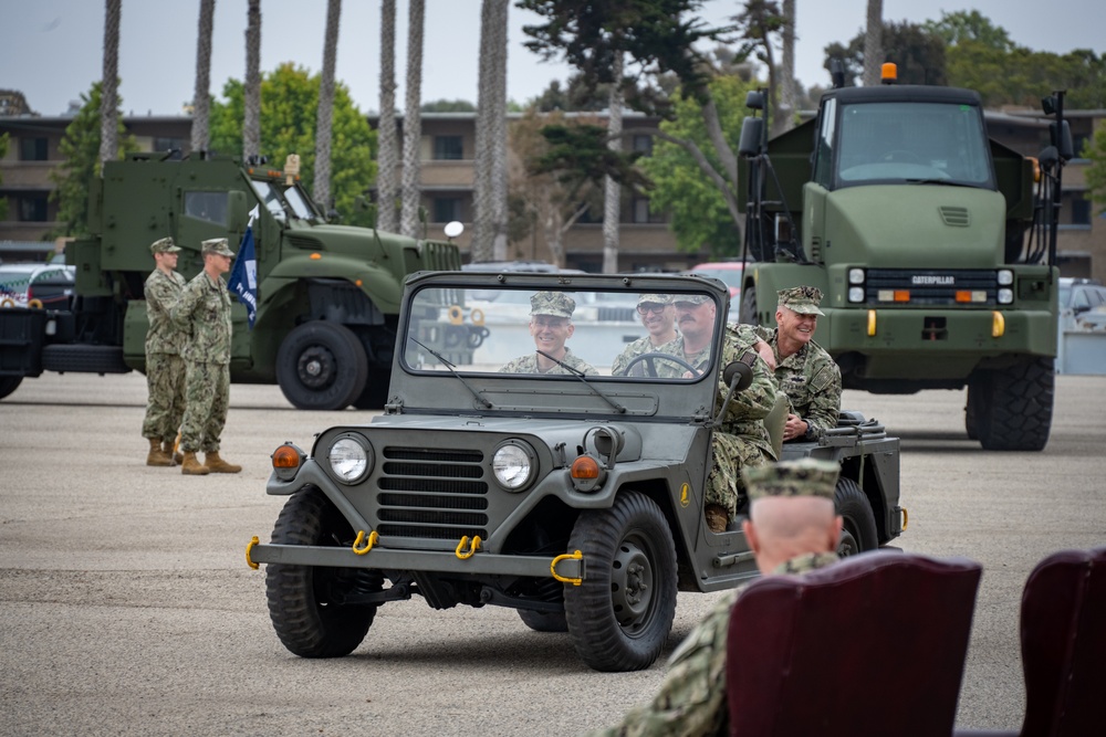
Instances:
[[[841,413],[841,369],[822,346],[814,343],[822,291],[794,286],[779,292],[775,329],[742,325],[744,339],[764,340],[775,354],[775,378],[787,394],[791,410],[783,439],[817,440],[837,427]]]

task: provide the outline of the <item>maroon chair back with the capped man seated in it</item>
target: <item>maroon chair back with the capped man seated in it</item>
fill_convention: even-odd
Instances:
[[[730,614],[730,734],[948,737],[980,575],[876,551],[751,583]]]

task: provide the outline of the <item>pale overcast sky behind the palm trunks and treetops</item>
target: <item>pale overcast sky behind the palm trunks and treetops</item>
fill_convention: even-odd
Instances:
[[[702,17],[722,24],[740,0],[707,0]],[[346,0],[342,7],[336,75],[364,113],[379,107],[379,0]],[[404,104],[407,49],[406,0],[396,3],[397,107]],[[828,85],[823,51],[847,43],[864,25],[867,0],[796,0],[796,76],[804,86]],[[1013,41],[1035,51],[1106,53],[1104,0],[884,0],[884,19],[920,23],[942,11],[979,10]],[[247,0],[217,0],[211,92],[221,97],[228,78],[244,77]],[[103,0],[0,0],[0,88],[19,90],[32,109],[62,115],[103,74]],[[179,115],[192,98],[199,0],[123,0],[119,94],[126,114]],[[543,63],[523,45],[522,27],[536,17],[509,14],[508,97],[541,94],[564,81],[563,63]],[[261,71],[292,61],[311,73],[323,63],[326,0],[262,0]],[[480,0],[426,0],[422,101],[477,99]]]

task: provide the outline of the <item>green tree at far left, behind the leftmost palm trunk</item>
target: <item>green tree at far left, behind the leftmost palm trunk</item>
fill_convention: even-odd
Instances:
[[[84,235],[88,232],[88,186],[102,172],[100,98],[101,83],[95,82],[87,94],[81,94],[81,109],[65,128],[65,135],[58,147],[63,162],[50,172],[50,180],[56,185],[56,189],[50,193],[50,200],[58,202],[58,220],[63,224],[52,231],[48,239]],[[118,98],[118,104],[123,105],[122,97]],[[127,154],[137,151],[138,144],[127,133],[122,115],[116,116],[116,158],[123,159]]]

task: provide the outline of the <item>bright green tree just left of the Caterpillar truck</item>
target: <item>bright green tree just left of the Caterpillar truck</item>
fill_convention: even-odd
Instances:
[[[737,148],[741,135],[745,94],[757,86],[735,76],[720,76],[710,83],[718,119],[731,148]],[[655,143],[653,154],[638,161],[654,185],[649,208],[670,212],[681,251],[708,249],[717,256],[740,255],[741,231],[724,197],[727,178],[719,173],[724,170],[722,159],[711,145],[701,109],[695,99],[677,96],[675,110],[675,118],[661,124],[664,136]]]

